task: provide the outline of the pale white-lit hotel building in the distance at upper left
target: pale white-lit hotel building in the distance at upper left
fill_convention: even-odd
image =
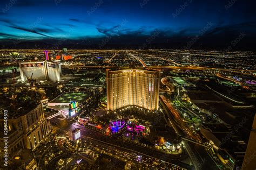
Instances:
[[[60,81],[61,66],[58,62],[38,61],[19,63],[22,81],[28,79]]]

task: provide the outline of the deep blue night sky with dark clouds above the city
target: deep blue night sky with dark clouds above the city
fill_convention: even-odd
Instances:
[[[0,45],[253,50],[255,5],[244,0],[2,0]]]

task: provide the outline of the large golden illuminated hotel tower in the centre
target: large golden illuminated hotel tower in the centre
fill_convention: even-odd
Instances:
[[[107,69],[107,110],[116,110],[126,105],[158,110],[159,79],[160,72]]]

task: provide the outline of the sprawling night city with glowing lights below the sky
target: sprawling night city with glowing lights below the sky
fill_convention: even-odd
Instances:
[[[63,48],[48,49],[45,56],[44,51],[0,50],[0,109],[8,111],[11,124],[5,165],[255,166],[250,157],[255,151],[254,52]],[[14,120],[30,115],[38,105],[51,126],[48,136],[40,136],[43,129],[31,128],[24,132],[33,134],[31,144],[15,142],[22,136],[14,135]],[[5,115],[0,117],[3,125]],[[33,116],[25,118],[27,124],[43,124]],[[106,159],[118,163],[105,164]]]

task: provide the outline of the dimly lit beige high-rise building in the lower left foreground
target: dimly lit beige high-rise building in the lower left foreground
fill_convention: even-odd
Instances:
[[[0,116],[1,127],[6,126],[8,130],[9,155],[21,152],[22,149],[35,150],[51,132],[50,121],[44,117],[42,103],[35,104],[35,107],[33,105],[24,105],[16,110],[9,108],[8,123]],[[1,136],[1,148],[4,148],[4,140]]]

